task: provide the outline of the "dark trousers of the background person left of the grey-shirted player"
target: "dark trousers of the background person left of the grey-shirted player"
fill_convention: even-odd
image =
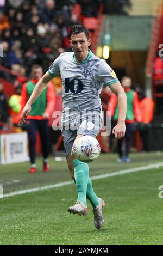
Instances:
[[[27,119],[27,133],[29,139],[29,156],[30,162],[35,163],[35,144],[36,144],[36,132],[39,131],[41,147],[42,147],[42,155],[44,158],[48,157],[48,120],[35,120],[35,119]]]

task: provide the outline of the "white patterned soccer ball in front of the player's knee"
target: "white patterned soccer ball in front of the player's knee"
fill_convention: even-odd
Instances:
[[[101,151],[101,147],[96,138],[92,136],[82,136],[74,143],[74,156],[82,162],[92,162],[97,159]]]

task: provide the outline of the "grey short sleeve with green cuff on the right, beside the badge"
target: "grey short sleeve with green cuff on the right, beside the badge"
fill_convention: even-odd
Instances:
[[[102,60],[99,64],[98,80],[104,83],[105,86],[110,86],[112,83],[119,81],[114,70],[111,69],[105,60]]]

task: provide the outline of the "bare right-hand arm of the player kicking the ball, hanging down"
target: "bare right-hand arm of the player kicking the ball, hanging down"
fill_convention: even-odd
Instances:
[[[126,111],[127,111],[127,97],[124,93],[124,90],[121,86],[120,82],[115,82],[110,85],[111,91],[117,96],[118,101],[118,121],[117,125],[112,130],[115,138],[122,138],[125,135],[125,119],[126,119]]]

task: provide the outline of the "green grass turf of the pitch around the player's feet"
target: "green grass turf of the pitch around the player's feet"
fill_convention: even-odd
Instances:
[[[162,153],[131,154],[132,163],[117,164],[116,155],[102,154],[90,164],[91,175],[162,162]],[[50,159],[52,170],[28,174],[29,163],[1,166],[4,193],[70,180],[66,162]],[[53,164],[52,164],[53,163]],[[93,181],[98,196],[105,200],[104,227],[97,230],[89,204],[87,217],[70,215],[74,185],[0,199],[0,245],[162,245],[163,168],[123,174]],[[19,183],[5,185],[20,179]]]

